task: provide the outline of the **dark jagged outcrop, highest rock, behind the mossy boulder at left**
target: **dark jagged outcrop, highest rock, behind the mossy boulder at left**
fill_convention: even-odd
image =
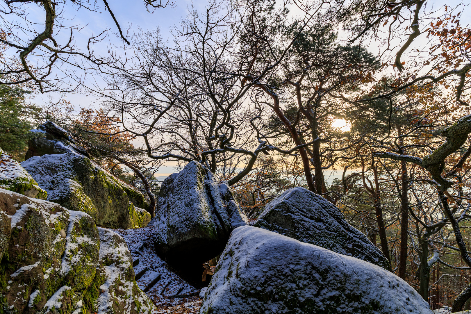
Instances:
[[[34,137],[28,142],[28,151],[25,159],[33,156],[53,155],[62,153],[80,153],[89,157],[88,153],[76,145],[65,129],[56,123],[46,121],[39,125],[39,129],[31,130]]]

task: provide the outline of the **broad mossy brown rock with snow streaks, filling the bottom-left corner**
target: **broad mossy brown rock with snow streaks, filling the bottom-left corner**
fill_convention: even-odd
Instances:
[[[0,313],[72,313],[96,273],[93,219],[7,190],[0,206],[11,229],[0,263]]]

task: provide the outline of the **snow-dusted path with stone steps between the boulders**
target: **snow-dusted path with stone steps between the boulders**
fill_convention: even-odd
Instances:
[[[151,227],[139,229],[112,229],[122,235],[133,259],[139,258],[134,267],[135,273],[147,267],[146,273],[137,281],[138,286],[144,290],[150,282],[160,279],[146,292],[154,301],[158,310],[155,314],[190,314],[198,313],[201,306],[200,290],[191,286],[177,274],[169,270],[167,263],[155,255],[154,245],[151,241]]]

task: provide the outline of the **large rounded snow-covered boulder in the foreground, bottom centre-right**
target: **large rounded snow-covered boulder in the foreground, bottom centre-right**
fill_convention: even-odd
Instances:
[[[432,314],[405,281],[363,260],[252,226],[236,228],[200,314]]]

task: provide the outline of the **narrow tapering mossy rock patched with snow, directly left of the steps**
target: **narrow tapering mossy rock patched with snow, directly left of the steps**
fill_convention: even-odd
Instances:
[[[150,314],[152,301],[138,287],[132,258],[124,239],[111,230],[98,228],[100,259],[95,279],[85,293],[83,313]]]

